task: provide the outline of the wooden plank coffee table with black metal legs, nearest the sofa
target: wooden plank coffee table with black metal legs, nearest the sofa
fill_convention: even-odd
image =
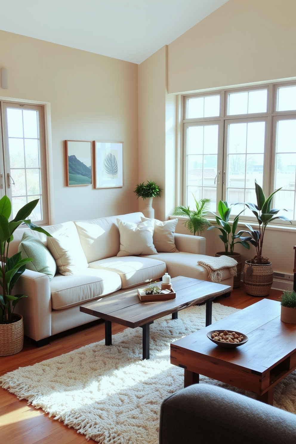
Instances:
[[[215,282],[201,281],[191,277],[173,277],[173,289],[176,298],[168,301],[141,302],[138,289],[118,291],[110,296],[81,305],[80,311],[105,320],[105,344],[112,345],[111,323],[117,322],[132,329],[143,329],[143,359],[149,359],[149,332],[150,324],[155,319],[172,314],[172,319],[178,318],[178,311],[191,305],[206,303],[205,325],[212,322],[212,301],[215,297],[231,291],[229,285]],[[147,285],[147,284],[146,284]],[[145,288],[146,285],[138,288]]]

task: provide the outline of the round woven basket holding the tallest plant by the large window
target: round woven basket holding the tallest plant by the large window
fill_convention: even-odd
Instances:
[[[252,269],[251,274],[248,269]],[[243,281],[246,292],[251,296],[268,296],[273,282],[271,262],[266,262],[266,264],[251,264],[250,260],[246,261]]]

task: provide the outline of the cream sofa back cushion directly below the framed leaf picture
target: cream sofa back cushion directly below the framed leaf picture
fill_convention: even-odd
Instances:
[[[116,219],[140,223],[143,213],[129,213],[94,220],[75,221],[87,262],[116,256],[120,248]]]

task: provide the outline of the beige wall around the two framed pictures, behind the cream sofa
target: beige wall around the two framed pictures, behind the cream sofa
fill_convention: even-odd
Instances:
[[[55,223],[138,210],[138,65],[0,31],[0,97],[49,102]],[[124,143],[124,186],[67,187],[63,140]]]

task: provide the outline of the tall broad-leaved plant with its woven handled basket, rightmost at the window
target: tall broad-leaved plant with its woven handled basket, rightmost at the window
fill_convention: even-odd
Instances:
[[[272,222],[275,219],[281,219],[290,222],[289,219],[285,216],[278,215],[278,212],[280,210],[272,208],[272,197],[279,190],[281,190],[281,188],[273,191],[272,194],[265,198],[262,188],[260,187],[260,185],[258,185],[255,179],[257,203],[237,202],[235,204],[244,204],[245,206],[247,206],[256,217],[258,223],[258,230],[254,230],[251,225],[246,223],[245,226],[249,229],[249,231],[241,230],[237,233],[238,236],[241,236],[244,233],[249,234],[249,236],[246,237],[241,236],[241,240],[243,242],[250,243],[256,248],[255,257],[253,259],[247,260],[245,262],[244,268],[245,289],[246,292],[251,296],[268,296],[269,290],[272,286],[272,263],[268,260],[268,258],[264,258],[262,255],[266,227],[268,226],[269,222]],[[283,210],[287,211],[285,209]]]

